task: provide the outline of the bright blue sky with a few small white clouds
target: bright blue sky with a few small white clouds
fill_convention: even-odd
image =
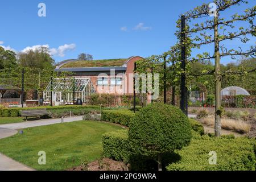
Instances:
[[[249,5],[238,6],[229,13],[255,5],[255,0],[249,1]],[[41,2],[46,4],[46,17],[38,16]],[[1,1],[0,46],[19,52],[47,45],[56,62],[76,59],[81,52],[90,53],[94,59],[158,55],[175,44],[179,15],[209,2],[212,1]],[[234,40],[228,47],[253,45],[255,38],[246,46]],[[222,60],[224,64],[228,62],[228,57]]]

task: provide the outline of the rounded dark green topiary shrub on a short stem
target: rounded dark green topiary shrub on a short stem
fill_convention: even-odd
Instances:
[[[143,107],[129,127],[133,152],[157,160],[159,170],[162,170],[163,154],[187,146],[192,138],[191,124],[183,112],[162,103]]]

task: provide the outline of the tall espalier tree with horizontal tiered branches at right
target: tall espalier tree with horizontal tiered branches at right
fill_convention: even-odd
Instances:
[[[241,5],[242,3],[247,3],[244,0],[215,0],[216,10],[214,12],[209,12],[209,5],[203,4],[202,6],[198,6],[195,9],[188,11],[185,14],[187,20],[203,18],[208,15],[213,15],[214,18],[212,20],[205,20],[202,23],[196,23],[193,25],[193,28],[187,30],[187,34],[191,35],[197,33],[192,40],[193,48],[200,48],[204,45],[214,44],[214,53],[210,55],[209,52],[204,52],[203,54],[199,54],[196,58],[192,58],[192,61],[198,60],[209,60],[214,59],[214,71],[204,71],[203,74],[214,72],[215,75],[215,96],[216,96],[216,106],[215,106],[215,123],[214,123],[214,131],[216,137],[220,136],[221,131],[221,80],[222,77],[227,74],[242,74],[245,72],[233,72],[233,71],[221,71],[220,59],[224,56],[230,56],[232,59],[236,59],[236,56],[251,56],[255,57],[256,46],[251,46],[249,50],[242,51],[239,49],[228,49],[224,47],[224,45],[220,46],[220,43],[225,44],[225,41],[231,41],[233,39],[239,39],[242,43],[246,43],[249,41],[249,38],[246,35],[250,34],[255,36],[255,24],[253,22],[255,16],[256,6],[246,9],[242,15],[238,13],[232,15],[229,20],[225,20],[225,18],[220,17],[223,11],[228,10],[230,7],[235,5]],[[240,27],[237,28],[235,26],[235,22],[243,21],[247,22],[247,28]],[[232,31],[236,28],[236,31]],[[209,35],[209,31],[213,31],[213,35]],[[220,30],[224,30],[220,32]],[[255,69],[251,70],[255,71]],[[251,72],[249,71],[249,72]]]

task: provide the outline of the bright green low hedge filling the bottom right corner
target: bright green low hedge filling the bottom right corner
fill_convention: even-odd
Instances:
[[[216,151],[217,164],[208,155]],[[176,152],[180,160],[167,166],[169,171],[251,171],[255,170],[255,139],[227,137],[194,138],[188,147]]]

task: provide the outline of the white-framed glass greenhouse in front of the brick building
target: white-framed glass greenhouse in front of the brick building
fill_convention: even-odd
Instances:
[[[74,91],[75,102],[79,98],[82,102],[87,102],[88,96],[96,93],[90,78],[55,78],[52,85],[49,82],[43,92],[44,102],[51,101],[51,90],[52,102],[55,102],[55,105],[73,104]]]

